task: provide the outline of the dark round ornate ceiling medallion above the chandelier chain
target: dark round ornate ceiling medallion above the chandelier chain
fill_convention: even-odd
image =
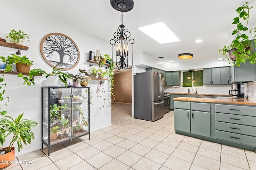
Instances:
[[[128,12],[134,7],[133,0],[110,0],[111,6],[118,11]]]

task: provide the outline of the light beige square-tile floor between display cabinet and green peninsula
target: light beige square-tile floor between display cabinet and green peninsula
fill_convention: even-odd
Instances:
[[[72,142],[18,156],[34,164],[8,170],[255,170],[256,153],[174,132],[174,112],[150,122],[131,118]]]

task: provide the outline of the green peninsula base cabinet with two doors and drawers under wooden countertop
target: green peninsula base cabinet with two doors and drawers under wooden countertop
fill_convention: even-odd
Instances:
[[[174,129],[182,135],[256,150],[256,106],[174,101]]]

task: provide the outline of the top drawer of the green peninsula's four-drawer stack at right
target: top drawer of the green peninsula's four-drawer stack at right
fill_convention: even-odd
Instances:
[[[256,107],[216,104],[215,111],[237,115],[256,116]]]

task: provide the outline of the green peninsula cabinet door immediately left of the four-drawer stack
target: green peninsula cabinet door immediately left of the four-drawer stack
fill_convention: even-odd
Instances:
[[[190,132],[197,135],[210,137],[210,112],[191,110],[190,114],[191,114]]]

